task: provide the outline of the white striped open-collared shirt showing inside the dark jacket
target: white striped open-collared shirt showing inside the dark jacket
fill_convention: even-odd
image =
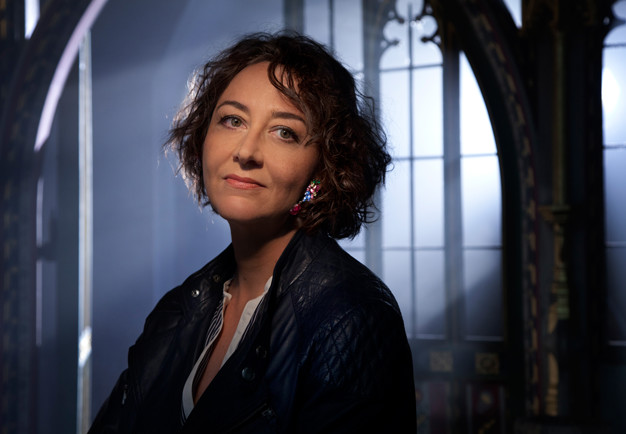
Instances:
[[[206,368],[206,365],[209,361],[208,355],[211,354],[213,344],[217,340],[220,332],[222,331],[222,327],[224,325],[224,310],[226,309],[226,306],[228,306],[228,303],[232,298],[232,295],[228,292],[231,281],[232,279],[229,279],[228,281],[224,282],[224,287],[222,290],[224,298],[221,300],[220,306],[218,306],[218,309],[216,309],[215,315],[213,315],[213,319],[211,320],[211,324],[209,325],[204,350],[202,351],[202,354],[200,354],[200,357],[198,357],[198,360],[196,361],[193,369],[187,377],[185,387],[183,387],[183,423],[189,417],[191,410],[193,410],[193,392],[196,389],[195,386],[197,385],[197,383],[200,382],[202,373],[204,373],[204,369]],[[248,303],[246,303],[246,306],[241,313],[241,318],[239,318],[239,323],[237,324],[237,329],[235,330],[233,339],[230,341],[230,345],[226,350],[226,354],[224,355],[224,359],[222,360],[222,364],[220,365],[220,367],[224,366],[224,363],[226,363],[228,358],[235,352],[235,350],[239,346],[241,338],[248,329],[248,326],[250,325],[250,322],[252,321],[252,318],[254,317],[257,308],[259,307],[259,304],[261,304],[261,301],[263,300],[263,297],[265,297],[265,294],[267,294],[267,291],[269,290],[271,284],[272,276],[270,276],[267,282],[265,282],[263,294],[259,295],[256,298],[253,298],[252,300],[248,301]]]

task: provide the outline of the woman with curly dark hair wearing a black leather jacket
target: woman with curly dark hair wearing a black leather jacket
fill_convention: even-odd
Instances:
[[[90,432],[415,432],[412,362],[355,236],[390,157],[351,74],[294,34],[198,74],[169,144],[232,244],[148,316]]]

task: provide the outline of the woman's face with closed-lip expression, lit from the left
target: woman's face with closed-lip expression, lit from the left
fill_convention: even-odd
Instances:
[[[231,225],[284,227],[317,167],[304,114],[272,86],[267,67],[257,63],[233,78],[204,140],[206,192]]]

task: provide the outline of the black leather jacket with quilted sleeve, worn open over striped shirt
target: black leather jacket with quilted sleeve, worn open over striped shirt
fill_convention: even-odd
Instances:
[[[388,288],[337,243],[298,232],[256,320],[181,426],[232,247],[167,293],[90,433],[415,433],[411,353]]]

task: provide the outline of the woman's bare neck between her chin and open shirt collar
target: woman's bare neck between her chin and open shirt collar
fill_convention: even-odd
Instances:
[[[268,235],[266,232],[230,225],[237,271],[233,283],[245,298],[263,292],[267,279],[274,272],[278,258],[296,233],[295,228]]]

